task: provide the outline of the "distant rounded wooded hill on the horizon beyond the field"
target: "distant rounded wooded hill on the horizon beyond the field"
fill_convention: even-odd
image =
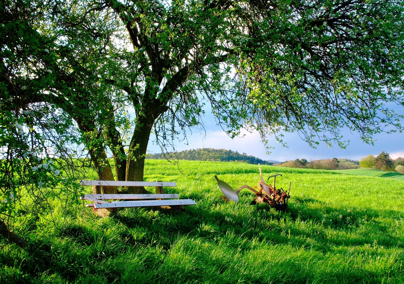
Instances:
[[[190,161],[221,161],[221,162],[240,162],[258,165],[272,165],[273,162],[264,161],[254,156],[247,155],[246,153],[238,153],[232,150],[225,149],[212,149],[212,148],[202,148],[202,149],[192,149],[184,150],[181,152],[169,153],[173,157],[177,157],[179,160],[190,160]],[[162,154],[150,154],[146,159],[165,159]]]

